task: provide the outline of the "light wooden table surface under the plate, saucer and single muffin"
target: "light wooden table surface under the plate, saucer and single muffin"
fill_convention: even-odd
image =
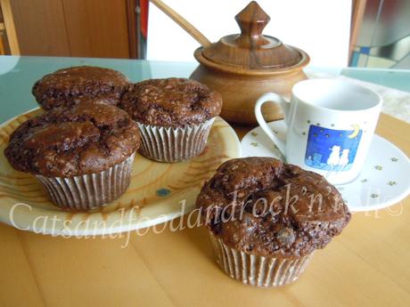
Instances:
[[[240,136],[247,130],[236,128]],[[382,115],[377,133],[410,154],[410,125]],[[52,238],[0,224],[0,306],[410,305],[410,198],[353,214],[282,288],[227,277],[203,228],[140,234],[127,245],[119,235]]]

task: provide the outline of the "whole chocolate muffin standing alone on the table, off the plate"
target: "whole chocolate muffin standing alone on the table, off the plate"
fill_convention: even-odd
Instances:
[[[313,252],[351,218],[322,175],[275,158],[225,162],[202,187],[197,206],[219,266],[258,287],[298,279]]]

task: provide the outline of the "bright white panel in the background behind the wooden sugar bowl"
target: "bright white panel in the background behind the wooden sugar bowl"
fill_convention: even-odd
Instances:
[[[234,15],[249,0],[163,0],[184,16],[210,41],[239,33]],[[266,35],[295,45],[311,57],[311,65],[345,67],[348,64],[348,38],[351,0],[258,0],[270,15]],[[150,4],[148,60],[195,61],[199,44],[182,28]]]

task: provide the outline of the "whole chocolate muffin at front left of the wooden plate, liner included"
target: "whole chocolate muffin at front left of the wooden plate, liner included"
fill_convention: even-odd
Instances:
[[[127,190],[139,141],[125,111],[83,101],[21,124],[4,154],[16,170],[36,175],[54,204],[87,210]]]

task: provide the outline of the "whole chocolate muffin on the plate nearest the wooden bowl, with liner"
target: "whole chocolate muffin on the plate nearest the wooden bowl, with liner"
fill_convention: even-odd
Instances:
[[[179,162],[201,154],[221,107],[219,93],[176,77],[130,86],[119,103],[138,124],[141,154],[160,162]]]

